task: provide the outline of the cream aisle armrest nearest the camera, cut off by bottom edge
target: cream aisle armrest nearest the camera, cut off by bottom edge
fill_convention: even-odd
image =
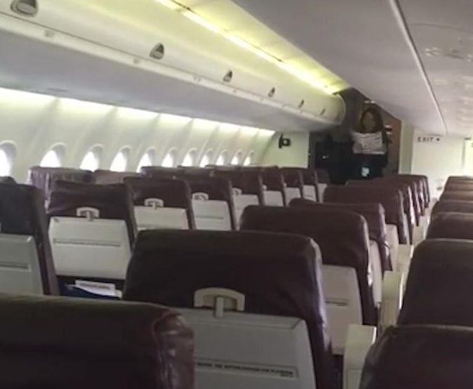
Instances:
[[[351,324],[343,357],[343,389],[359,389],[366,354],[376,339],[376,328]]]

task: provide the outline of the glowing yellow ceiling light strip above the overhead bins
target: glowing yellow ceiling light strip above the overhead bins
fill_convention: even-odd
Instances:
[[[180,4],[178,1],[174,1],[174,0],[155,0],[155,1],[162,4],[163,6],[171,8],[174,11],[180,12],[187,19],[192,20],[193,22],[196,22],[197,24],[208,29],[209,31],[214,32],[215,34],[222,35],[222,37],[225,37],[226,39],[231,41],[233,44],[236,44],[237,46],[244,48],[246,51],[250,51],[251,53],[258,55],[260,58],[267,60],[267,62],[271,62],[277,65],[288,74],[291,74],[292,76],[297,77],[301,81],[304,81],[306,84],[309,84],[310,86],[317,88],[320,91],[324,91],[328,94],[338,92],[338,88],[335,88],[334,85],[332,86],[327,85],[322,79],[317,79],[316,77],[312,76],[312,74],[309,74],[305,72],[304,70],[300,70],[298,67],[290,65],[287,62],[284,62],[283,60],[281,60],[280,58],[277,58],[274,55],[262,50],[261,48],[254,46],[250,42],[244,39],[241,39],[240,37],[237,37],[237,35],[227,32],[225,29],[222,29],[218,27],[217,25],[214,25],[212,22],[210,22],[209,20],[206,20],[205,18],[202,18],[199,14],[192,11],[191,8]]]

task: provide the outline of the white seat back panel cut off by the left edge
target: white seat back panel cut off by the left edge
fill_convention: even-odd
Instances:
[[[43,294],[33,237],[0,234],[0,292]]]

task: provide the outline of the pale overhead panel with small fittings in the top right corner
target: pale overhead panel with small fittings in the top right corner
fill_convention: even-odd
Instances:
[[[400,2],[448,131],[473,134],[473,3]]]

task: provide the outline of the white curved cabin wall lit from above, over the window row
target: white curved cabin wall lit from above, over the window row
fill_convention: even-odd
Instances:
[[[171,150],[177,150],[176,164],[190,150],[196,150],[196,166],[209,151],[210,164],[223,151],[229,161],[237,152],[243,159],[253,153],[253,163],[258,163],[273,135],[274,131],[0,88],[0,146],[14,145],[11,176],[20,182],[55,145],[65,147],[63,165],[77,169],[93,147],[102,147],[100,169],[109,169],[116,154],[128,147],[127,170],[135,171],[148,150],[154,150],[154,164],[161,164]]]

